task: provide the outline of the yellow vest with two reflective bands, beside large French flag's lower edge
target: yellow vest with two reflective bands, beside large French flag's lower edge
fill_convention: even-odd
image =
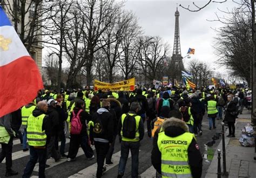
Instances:
[[[32,114],[28,118],[28,127],[26,128],[26,137],[30,146],[45,146],[46,145],[46,134],[42,130],[43,120],[45,114],[41,114],[38,117],[34,117]]]

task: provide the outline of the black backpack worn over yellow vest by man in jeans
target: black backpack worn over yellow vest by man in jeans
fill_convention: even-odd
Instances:
[[[126,113],[126,117],[123,121],[123,136],[128,139],[134,139],[136,135],[136,117],[137,115],[130,115]]]

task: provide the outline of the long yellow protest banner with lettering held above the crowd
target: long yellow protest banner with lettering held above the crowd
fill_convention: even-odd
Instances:
[[[104,83],[99,80],[94,81],[95,91],[102,90],[111,90],[111,91],[133,91],[135,85],[135,78],[131,78],[128,80],[119,81],[117,83]]]

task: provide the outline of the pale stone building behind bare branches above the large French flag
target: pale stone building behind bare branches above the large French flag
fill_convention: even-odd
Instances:
[[[33,0],[26,0],[26,4],[30,4],[31,1]],[[16,4],[15,4],[16,2]],[[9,3],[9,4],[6,4]],[[16,0],[16,1],[6,1],[6,0],[0,0],[0,5],[2,6],[2,8],[5,10],[6,15],[9,17],[10,21],[12,24],[14,24],[15,19],[11,16],[11,11],[7,8],[10,8],[12,10],[17,9],[17,18],[20,19],[20,11],[21,11],[21,2],[20,0]],[[26,7],[25,9],[27,9],[28,7]],[[25,24],[29,24],[31,22],[31,19],[33,17],[35,13],[35,2],[33,1],[30,5],[30,9],[29,12],[26,13],[25,15]],[[28,27],[29,25],[27,25]],[[18,29],[21,29],[21,23],[18,23]],[[28,29],[26,29],[27,31],[29,31]],[[31,48],[30,48],[30,55],[31,57],[36,61],[36,64],[38,66],[39,71],[42,73],[42,49],[43,49],[43,45],[42,43],[37,43],[37,41],[41,41],[42,39],[42,31],[38,30],[37,31],[37,35],[36,38],[38,38],[37,40],[33,40],[35,41],[35,43],[32,44]],[[25,34],[26,35],[26,34]],[[26,44],[25,44],[26,45]]]

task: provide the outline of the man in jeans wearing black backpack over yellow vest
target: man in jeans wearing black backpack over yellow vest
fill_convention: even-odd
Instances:
[[[118,122],[118,135],[122,139],[122,143],[117,177],[124,175],[130,150],[132,154],[132,177],[138,177],[139,174],[139,141],[144,136],[143,120],[136,114],[139,110],[138,102],[132,102],[130,111],[123,114]]]

